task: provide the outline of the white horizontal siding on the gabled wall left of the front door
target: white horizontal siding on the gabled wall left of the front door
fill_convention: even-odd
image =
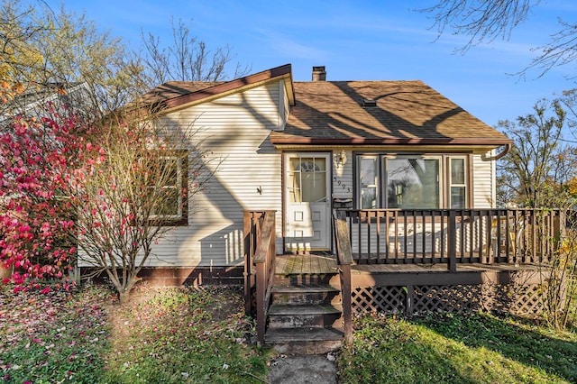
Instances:
[[[214,178],[188,206],[188,227],[177,227],[155,246],[150,266],[223,267],[243,262],[243,210],[277,211],[282,249],[281,155],[269,135],[279,126],[279,82],[255,87],[168,114],[171,124],[200,129],[212,151]],[[220,166],[214,169],[215,165]]]

